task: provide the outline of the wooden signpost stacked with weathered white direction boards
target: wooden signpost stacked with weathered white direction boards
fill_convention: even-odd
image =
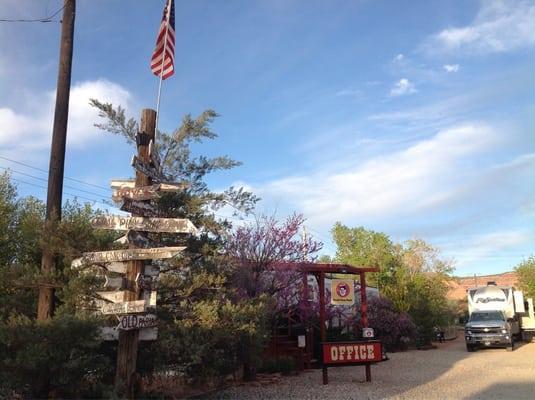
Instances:
[[[115,291],[97,292],[106,302],[101,307],[103,314],[118,316],[119,325],[117,349],[116,389],[134,396],[134,378],[138,340],[156,338],[156,316],[149,311],[156,308],[155,278],[159,268],[150,265],[152,259],[169,259],[178,255],[185,247],[154,247],[146,232],[196,233],[195,226],[187,219],[160,218],[153,200],[159,193],[177,191],[181,184],[166,183],[160,158],[154,147],[156,112],[142,111],[140,133],[136,136],[138,154],[133,157],[136,170],[135,181],[115,180],[113,200],[121,203],[121,210],[132,213],[131,217],[99,216],[92,225],[99,229],[123,230],[128,249],[84,253],[73,261],[73,268],[102,265],[109,272],[120,277],[107,277],[105,287]],[[147,265],[146,265],[147,264]],[[113,331],[108,332],[113,339]]]

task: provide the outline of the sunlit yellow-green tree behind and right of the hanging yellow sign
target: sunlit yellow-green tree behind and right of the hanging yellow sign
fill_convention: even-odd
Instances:
[[[382,295],[400,313],[408,313],[422,343],[429,343],[433,328],[447,324],[454,315],[446,294],[451,262],[421,239],[395,244],[380,232],[363,227],[333,227],[337,245],[334,261],[357,266],[377,266],[375,281]]]

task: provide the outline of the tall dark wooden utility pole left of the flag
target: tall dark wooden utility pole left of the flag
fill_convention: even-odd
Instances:
[[[52,146],[48,171],[48,193],[46,199],[45,231],[52,229],[61,220],[61,198],[63,192],[63,171],[65,167],[65,144],[67,141],[67,120],[69,116],[69,94],[71,90],[72,49],[74,37],[74,17],[76,0],[64,0],[61,23],[61,43],[59,55],[56,108],[52,130]],[[44,246],[41,271],[52,273],[55,257],[48,246]],[[46,320],[54,313],[54,288],[39,287],[37,319]]]

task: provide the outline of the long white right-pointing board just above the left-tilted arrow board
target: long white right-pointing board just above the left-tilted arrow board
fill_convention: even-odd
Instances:
[[[135,230],[147,232],[193,233],[197,228],[189,219],[122,217],[120,215],[100,215],[91,220],[93,228],[119,231]]]

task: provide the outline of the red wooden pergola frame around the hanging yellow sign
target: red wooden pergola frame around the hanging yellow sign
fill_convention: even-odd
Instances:
[[[303,286],[304,290],[308,290],[308,274],[313,274],[318,279],[319,295],[320,295],[320,335],[321,341],[327,341],[327,334],[325,328],[325,274],[351,274],[359,275],[360,278],[360,312],[362,327],[368,327],[368,306],[366,299],[366,273],[379,272],[379,268],[374,267],[356,267],[347,264],[325,264],[325,263],[311,263],[311,262],[276,262],[272,264],[274,268],[292,268],[303,272]],[[305,298],[308,298],[308,293],[305,292]],[[323,384],[329,383],[329,376],[327,373],[327,365],[323,364]],[[371,381],[371,364],[366,363],[366,381]]]

